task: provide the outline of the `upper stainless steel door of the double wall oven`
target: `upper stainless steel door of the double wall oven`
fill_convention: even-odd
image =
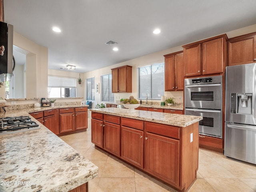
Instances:
[[[222,84],[185,84],[185,108],[221,109]]]

